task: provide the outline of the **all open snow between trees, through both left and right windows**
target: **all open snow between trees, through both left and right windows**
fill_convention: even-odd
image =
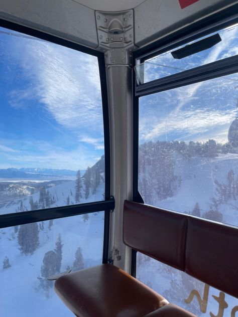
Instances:
[[[179,186],[176,187],[173,195],[167,198],[159,200],[156,191],[153,192],[151,198],[154,205],[166,209],[189,213],[194,204],[198,202],[202,215],[208,211],[211,198],[217,198],[215,181],[226,184],[227,173],[230,170],[234,172],[235,178],[238,174],[237,154],[219,154],[212,158],[195,157],[192,160],[185,160],[180,154],[176,154],[174,157],[174,175],[178,176],[177,179],[180,180]],[[150,169],[153,170],[147,166],[146,173]],[[151,181],[153,175],[154,173],[146,175],[147,180]],[[90,191],[89,197],[85,199],[84,191],[85,186],[83,185],[81,203],[103,200],[103,173],[101,173],[100,183],[94,194]],[[141,192],[143,193],[143,188],[141,188]],[[75,204],[75,181],[48,187],[48,196],[54,198],[50,207],[65,206],[68,203]],[[0,214],[31,210],[31,199],[33,202],[39,203],[40,192],[15,199],[10,204],[8,202],[0,208]],[[222,213],[223,222],[238,225],[237,202],[238,199],[219,204],[218,210]],[[40,206],[38,207],[40,208]],[[5,269],[0,267],[1,316],[47,317],[57,315],[58,317],[66,317],[72,315],[57,297],[53,288],[45,291],[40,286],[38,277],[42,277],[41,267],[44,255],[55,249],[59,234],[63,244],[61,272],[67,270],[68,267],[73,267],[75,252],[79,246],[82,249],[84,267],[101,263],[104,212],[92,213],[88,216],[88,219],[85,216],[57,219],[53,221],[52,226],[50,226],[49,221],[44,223],[44,227],[42,224],[38,224],[41,228],[39,230],[40,246],[32,255],[21,253],[18,232],[15,228],[0,230],[0,262],[8,257],[11,265]],[[195,297],[190,304],[184,301],[192,289],[197,289],[202,297],[204,284],[183,272],[139,254],[137,277],[171,302],[193,311],[198,316],[209,316],[210,312],[214,315],[217,314],[218,303],[212,295],[219,296],[219,291],[213,288],[209,290],[206,313],[200,312]],[[225,300],[228,303],[228,308],[224,310],[223,317],[230,316],[232,307],[238,305],[237,299],[227,294]]]

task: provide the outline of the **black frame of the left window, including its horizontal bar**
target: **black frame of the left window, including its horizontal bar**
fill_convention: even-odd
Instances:
[[[80,44],[59,38],[55,35],[47,34],[42,31],[25,27],[4,19],[0,19],[0,26],[97,57],[102,99],[105,157],[105,199],[103,201],[0,215],[0,229],[33,222],[47,221],[51,219],[104,211],[102,263],[107,263],[109,245],[109,220],[110,211],[114,209],[114,198],[110,196],[110,137],[107,87],[104,84],[106,82],[104,54]]]

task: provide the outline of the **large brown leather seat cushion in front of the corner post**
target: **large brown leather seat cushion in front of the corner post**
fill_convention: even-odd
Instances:
[[[55,282],[55,291],[78,317],[140,317],[168,303],[111,264],[61,276]]]

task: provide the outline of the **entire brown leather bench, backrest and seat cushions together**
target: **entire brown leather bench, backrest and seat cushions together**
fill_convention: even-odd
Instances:
[[[238,296],[236,228],[125,201],[123,239],[137,251]],[[111,264],[61,276],[55,290],[78,317],[194,316]]]

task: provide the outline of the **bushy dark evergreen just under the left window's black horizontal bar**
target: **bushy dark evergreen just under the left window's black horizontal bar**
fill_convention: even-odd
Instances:
[[[25,255],[33,254],[39,247],[39,229],[37,223],[21,225],[18,231],[20,250]]]

